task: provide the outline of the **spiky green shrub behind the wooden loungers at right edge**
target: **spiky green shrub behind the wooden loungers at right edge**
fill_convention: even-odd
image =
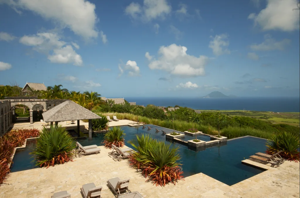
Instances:
[[[299,137],[294,134],[281,132],[273,135],[268,139],[267,147],[267,153],[270,155],[283,151],[280,153],[281,157],[290,161],[299,161]]]

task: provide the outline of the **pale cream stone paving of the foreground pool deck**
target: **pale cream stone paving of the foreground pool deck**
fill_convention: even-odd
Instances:
[[[299,197],[299,163],[285,161],[280,167],[267,170],[242,182],[228,186],[205,174],[198,173],[166,187],[151,182],[128,166],[128,160],[114,161],[103,146],[97,155],[82,156],[55,167],[36,168],[11,173],[0,187],[0,198],[50,198],[54,192],[67,190],[71,197],[82,197],[80,187],[94,182],[102,186],[102,197],[113,198],[107,180],[130,178],[129,189],[144,197]],[[226,171],[226,170],[224,170]]]

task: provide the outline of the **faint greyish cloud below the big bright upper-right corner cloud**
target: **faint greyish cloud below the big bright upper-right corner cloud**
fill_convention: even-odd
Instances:
[[[271,35],[267,34],[264,36],[265,41],[261,44],[252,44],[250,48],[252,50],[260,50],[260,51],[271,51],[271,50],[284,50],[284,48],[290,44],[289,39],[283,39],[282,41],[275,41]]]

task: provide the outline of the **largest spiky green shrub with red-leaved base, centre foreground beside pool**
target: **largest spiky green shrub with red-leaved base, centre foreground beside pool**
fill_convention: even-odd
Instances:
[[[136,150],[129,158],[130,164],[141,169],[146,178],[149,177],[146,182],[165,186],[170,182],[175,185],[178,180],[184,180],[178,162],[181,159],[178,147],[153,139],[150,134],[137,135],[137,139],[129,143]]]

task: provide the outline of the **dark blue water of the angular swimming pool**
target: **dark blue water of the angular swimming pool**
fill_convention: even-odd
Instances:
[[[166,130],[167,133],[172,131],[154,125],[146,126],[149,126],[152,129],[149,130],[147,128],[143,129],[142,127],[128,126],[121,127],[125,132],[125,145],[133,148],[129,143],[127,143],[127,141],[135,139],[137,134],[144,133],[150,133],[154,138],[165,141],[166,137],[161,133],[161,130]],[[155,128],[160,131],[155,132]],[[197,138],[201,136],[197,135]],[[88,146],[92,144],[102,146],[103,138],[103,133],[92,134],[91,140],[86,138],[80,139],[78,142],[82,144],[82,146]],[[266,140],[264,139],[244,137],[235,140],[229,140],[227,141],[226,145],[213,146],[199,152],[192,151],[188,149],[187,146],[179,143],[172,143],[168,141],[165,141],[165,143],[179,147],[179,153],[182,157],[182,170],[185,177],[197,173],[204,173],[205,175],[217,179],[227,185],[233,185],[263,172],[262,170],[241,164],[241,161],[249,158],[250,155],[253,155],[256,152],[264,152],[266,150]],[[31,152],[30,150],[32,150],[34,146],[34,143],[32,145],[29,144],[26,146],[26,149],[16,152],[13,158],[14,164],[11,168],[11,172],[35,168],[34,164],[31,162],[31,155],[29,154],[29,152]]]

